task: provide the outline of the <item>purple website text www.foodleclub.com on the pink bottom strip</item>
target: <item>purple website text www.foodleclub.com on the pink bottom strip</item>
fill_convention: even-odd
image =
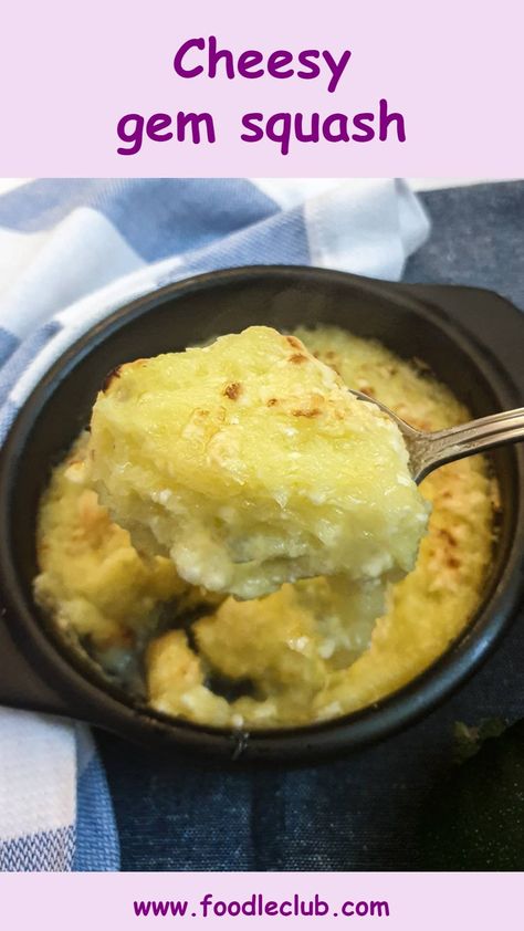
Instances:
[[[389,918],[389,903],[382,900],[346,899],[331,904],[315,893],[297,893],[286,899],[269,899],[253,892],[245,899],[218,899],[207,892],[198,902],[186,899],[135,900],[137,918]]]

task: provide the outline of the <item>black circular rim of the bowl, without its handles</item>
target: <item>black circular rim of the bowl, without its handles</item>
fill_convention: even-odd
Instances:
[[[475,339],[460,323],[447,317],[441,308],[431,305],[429,300],[422,301],[420,296],[408,293],[404,283],[380,282],[345,272],[300,265],[252,265],[208,272],[169,283],[127,302],[103,321],[88,327],[53,363],[22,404],[0,453],[0,520],[6,521],[4,526],[10,527],[9,488],[13,481],[17,442],[21,440],[20,449],[23,450],[24,443],[31,438],[31,423],[34,422],[35,416],[39,416],[39,409],[45,405],[56,385],[71,374],[77,362],[96,352],[98,344],[112,333],[168,301],[178,300],[195,291],[209,291],[228,285],[237,280],[247,282],[260,276],[275,275],[289,281],[300,278],[323,280],[326,284],[332,281],[349,287],[353,285],[371,297],[411,310],[421,318],[429,317],[458,343],[473,362],[476,363],[476,356],[480,355],[482,363],[488,364],[486,380],[493,391],[497,397],[513,397],[514,401],[517,388],[496,356],[490,354],[489,347]],[[409,290],[409,285],[407,287]],[[175,743],[189,750],[203,750],[229,759],[249,757],[259,761],[305,757],[311,762],[314,756],[363,746],[413,723],[447,698],[473,674],[511,623],[518,595],[524,587],[524,534],[521,530],[524,524],[524,456],[522,450],[513,452],[515,471],[520,479],[514,533],[507,559],[499,577],[491,580],[491,590],[468,627],[434,662],[400,689],[350,714],[303,726],[255,730],[247,736],[242,731],[193,724],[168,718],[132,701],[123,702],[112,695],[99,681],[95,683],[86,678],[85,672],[81,672],[73,665],[71,657],[66,657],[65,651],[60,651],[56,640],[50,638],[41,624],[34,604],[32,609],[28,608],[27,593],[22,593],[20,597],[23,586],[18,578],[10,552],[10,535],[4,532],[0,535],[0,575],[4,582],[7,626],[24,656],[36,669],[43,670],[44,679],[53,687],[56,684],[59,692],[70,702],[72,714],[80,712],[80,716],[125,736],[146,743],[149,739],[155,743]],[[20,456],[20,450],[18,454]]]

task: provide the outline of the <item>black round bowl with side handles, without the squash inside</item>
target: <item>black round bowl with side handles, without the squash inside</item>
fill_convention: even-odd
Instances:
[[[168,720],[108,684],[34,605],[39,495],[51,467],[87,422],[98,387],[112,368],[251,324],[290,328],[321,322],[377,337],[400,356],[425,359],[474,415],[524,402],[524,317],[486,291],[261,266],[213,272],[134,301],[59,359],[24,404],[1,453],[1,702],[78,718],[132,740],[179,751],[222,759],[312,760],[405,726],[441,702],[488,656],[515,613],[522,589],[524,458],[516,447],[492,457],[503,511],[481,607],[430,669],[356,714],[251,735]]]

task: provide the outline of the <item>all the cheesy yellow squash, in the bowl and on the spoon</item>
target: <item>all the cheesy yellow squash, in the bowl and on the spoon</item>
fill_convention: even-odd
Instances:
[[[344,386],[421,429],[470,416],[329,326],[123,366],[43,495],[39,604],[197,723],[306,724],[409,682],[479,605],[496,484],[474,457],[417,489],[397,428]]]

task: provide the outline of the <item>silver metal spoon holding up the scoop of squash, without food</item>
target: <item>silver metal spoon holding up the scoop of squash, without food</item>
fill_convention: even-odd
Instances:
[[[380,410],[384,410],[388,417],[395,420],[406,442],[411,475],[417,484],[420,484],[429,472],[446,462],[463,459],[495,446],[524,440],[524,407],[492,414],[490,417],[481,417],[479,420],[470,420],[469,423],[460,423],[449,430],[428,433],[410,427],[409,423],[406,423],[386,405],[380,404],[375,398],[370,398],[361,391],[352,391],[352,394],[360,400],[376,404]]]

